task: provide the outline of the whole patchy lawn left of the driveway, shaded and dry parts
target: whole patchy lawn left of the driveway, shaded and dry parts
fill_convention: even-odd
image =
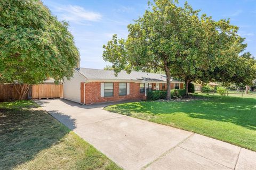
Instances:
[[[0,103],[0,169],[121,169],[37,107]]]

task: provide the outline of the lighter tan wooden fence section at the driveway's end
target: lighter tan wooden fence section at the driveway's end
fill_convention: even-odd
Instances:
[[[32,98],[60,98],[63,97],[62,84],[37,84],[32,86]]]

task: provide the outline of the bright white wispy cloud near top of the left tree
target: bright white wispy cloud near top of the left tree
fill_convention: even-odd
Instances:
[[[77,5],[57,5],[52,7],[59,13],[58,16],[61,20],[67,20],[70,22],[76,22],[80,24],[84,21],[99,21],[102,15],[98,12],[87,11],[85,8]]]

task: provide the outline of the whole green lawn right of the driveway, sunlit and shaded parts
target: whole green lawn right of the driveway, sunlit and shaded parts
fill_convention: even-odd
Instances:
[[[204,96],[193,101],[141,101],[105,109],[256,151],[255,98]]]

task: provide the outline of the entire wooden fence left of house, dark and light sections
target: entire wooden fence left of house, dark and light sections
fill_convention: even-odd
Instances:
[[[0,102],[18,100],[19,93],[15,88],[17,88],[18,91],[20,90],[20,86],[17,84],[0,84]],[[61,97],[63,97],[62,84],[37,84],[30,86],[23,100]]]

